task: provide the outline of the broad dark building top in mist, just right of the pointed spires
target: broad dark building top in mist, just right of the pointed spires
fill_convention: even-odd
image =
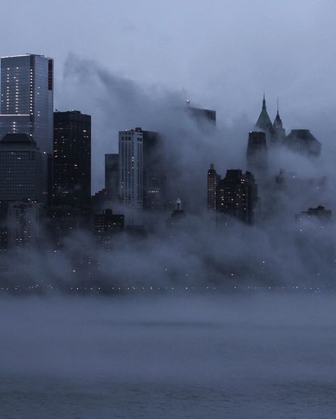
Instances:
[[[321,143],[309,130],[291,130],[284,144],[289,149],[306,156],[318,157],[321,154]]]

